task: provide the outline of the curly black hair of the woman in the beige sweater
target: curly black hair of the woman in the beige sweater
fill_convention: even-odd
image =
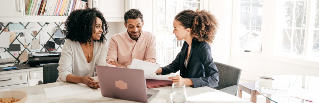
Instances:
[[[104,19],[103,14],[96,10],[96,8],[87,8],[83,10],[74,10],[70,13],[66,19],[64,29],[65,29],[65,38],[72,41],[77,41],[83,44],[92,42],[92,33],[95,32],[94,26],[96,22],[96,17],[99,17],[102,20],[102,34],[100,43],[105,43],[105,35],[108,33],[108,22]]]

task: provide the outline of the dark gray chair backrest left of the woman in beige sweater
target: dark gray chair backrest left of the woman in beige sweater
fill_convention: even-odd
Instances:
[[[43,65],[43,84],[56,82],[58,79],[58,63]]]

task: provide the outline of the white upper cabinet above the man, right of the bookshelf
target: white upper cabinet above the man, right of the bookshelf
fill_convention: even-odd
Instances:
[[[92,7],[97,8],[103,13],[108,22],[124,22],[125,6],[124,2],[130,0],[93,0]]]

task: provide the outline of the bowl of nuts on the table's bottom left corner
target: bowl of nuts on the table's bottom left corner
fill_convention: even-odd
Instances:
[[[0,103],[24,103],[28,98],[24,91],[1,91]]]

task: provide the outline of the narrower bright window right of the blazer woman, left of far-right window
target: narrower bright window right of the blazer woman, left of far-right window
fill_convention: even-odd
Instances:
[[[241,0],[236,18],[236,51],[261,51],[263,1]]]

